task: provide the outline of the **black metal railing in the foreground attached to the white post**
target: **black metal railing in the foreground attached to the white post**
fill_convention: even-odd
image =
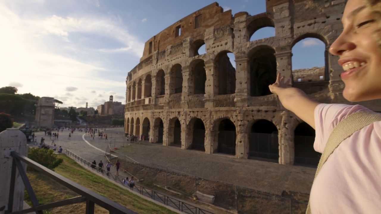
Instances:
[[[82,187],[81,185],[73,182],[72,180],[69,180],[64,176],[61,176],[60,174],[54,171],[51,171],[45,166],[42,166],[41,164],[38,164],[35,161],[23,155],[20,155],[17,152],[14,152],[14,151],[11,152],[11,156],[13,157],[13,163],[12,163],[12,171],[11,171],[11,184],[10,184],[8,210],[5,212],[6,214],[24,214],[28,212],[36,212],[37,214],[43,214],[42,211],[46,209],[81,203],[85,201],[86,201],[86,214],[94,214],[95,204],[101,206],[104,209],[107,209],[110,214],[137,214],[136,212],[131,211],[130,209],[127,209],[123,207],[122,205],[114,201],[111,201],[108,198],[105,198],[91,190],[88,190],[85,187]],[[40,205],[38,203],[34,190],[32,186],[30,185],[29,179],[24,170],[24,167],[21,164],[21,161],[28,164],[30,167],[42,172],[44,175],[46,175],[47,177],[50,177],[51,179],[55,180],[59,184],[64,185],[65,187],[69,188],[75,193],[78,193],[80,196],[62,200],[62,201],[56,201],[49,204]],[[14,198],[14,187],[16,184],[16,169],[18,169],[19,171],[19,175],[21,176],[22,181],[24,182],[25,188],[29,194],[29,197],[30,197],[30,200],[32,201],[32,206],[33,206],[32,208],[23,209],[21,211],[12,210],[13,198]]]

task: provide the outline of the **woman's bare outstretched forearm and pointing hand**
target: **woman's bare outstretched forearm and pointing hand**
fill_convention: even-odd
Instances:
[[[270,91],[277,94],[282,105],[315,129],[314,111],[319,102],[311,100],[306,93],[298,88],[287,88],[290,79],[284,82],[285,77],[278,73],[277,81],[269,85]]]

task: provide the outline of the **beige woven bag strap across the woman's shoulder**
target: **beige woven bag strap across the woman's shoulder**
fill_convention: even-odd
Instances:
[[[320,157],[319,164],[317,165],[315,179],[325,161],[327,161],[328,157],[333,153],[333,151],[339,146],[341,142],[350,137],[356,131],[359,131],[365,126],[368,126],[376,121],[381,121],[381,114],[372,112],[370,110],[355,112],[341,120],[338,125],[333,128],[333,131],[328,138],[322,157]],[[306,214],[311,214],[309,201]]]

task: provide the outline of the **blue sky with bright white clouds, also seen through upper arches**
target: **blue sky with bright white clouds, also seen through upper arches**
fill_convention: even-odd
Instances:
[[[60,107],[125,104],[126,77],[144,43],[214,0],[0,0],[0,88],[54,97]],[[232,14],[266,11],[265,0],[220,0]],[[251,40],[271,37],[258,30]],[[324,65],[323,42],[293,48],[293,69]],[[201,53],[200,53],[201,54]],[[234,55],[229,56],[234,61]]]

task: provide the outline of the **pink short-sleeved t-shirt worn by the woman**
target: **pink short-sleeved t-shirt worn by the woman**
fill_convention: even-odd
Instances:
[[[322,153],[333,128],[361,105],[319,104],[314,149]],[[381,213],[381,121],[355,132],[335,149],[311,188],[312,214]]]

